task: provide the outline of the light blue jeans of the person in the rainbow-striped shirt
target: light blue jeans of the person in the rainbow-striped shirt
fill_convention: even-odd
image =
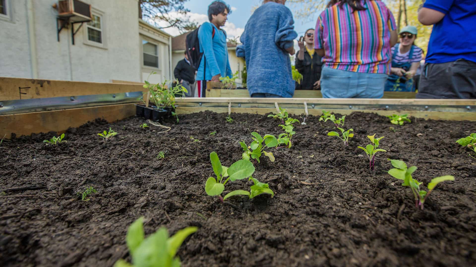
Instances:
[[[323,67],[321,92],[324,98],[382,98],[387,74],[360,73]]]

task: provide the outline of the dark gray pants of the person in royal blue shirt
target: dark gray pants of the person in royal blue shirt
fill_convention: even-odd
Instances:
[[[425,64],[416,98],[476,99],[476,63],[458,59]]]

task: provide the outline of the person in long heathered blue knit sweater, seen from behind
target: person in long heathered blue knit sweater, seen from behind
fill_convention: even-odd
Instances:
[[[240,37],[237,57],[245,57],[251,97],[293,97],[291,60],[294,55],[294,20],[286,0],[264,0]]]

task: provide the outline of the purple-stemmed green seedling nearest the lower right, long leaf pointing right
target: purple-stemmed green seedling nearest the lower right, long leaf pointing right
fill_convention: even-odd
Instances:
[[[415,207],[418,209],[423,210],[423,205],[425,204],[426,198],[430,195],[430,193],[435,189],[436,185],[442,181],[454,181],[455,177],[452,175],[445,175],[445,176],[440,176],[433,178],[427,185],[428,187],[428,192],[424,190],[420,190],[420,185],[422,184],[421,182],[413,179],[412,173],[417,170],[416,166],[412,166],[410,168],[407,168],[407,164],[403,161],[400,160],[391,160],[388,159],[391,163],[392,166],[394,166],[394,169],[390,169],[388,171],[388,174],[390,174],[392,177],[398,179],[398,180],[403,180],[402,185],[403,186],[409,186],[410,189],[413,192],[413,196],[415,197]]]

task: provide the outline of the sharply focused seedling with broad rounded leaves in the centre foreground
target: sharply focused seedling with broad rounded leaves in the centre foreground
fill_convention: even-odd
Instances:
[[[255,166],[247,160],[239,160],[231,164],[229,168],[222,166],[216,152],[210,153],[210,162],[217,178],[208,178],[205,183],[205,192],[209,196],[218,196],[221,202],[223,202],[221,193],[225,190],[225,185],[228,181],[243,180],[255,172]],[[226,177],[228,178],[223,181]]]

